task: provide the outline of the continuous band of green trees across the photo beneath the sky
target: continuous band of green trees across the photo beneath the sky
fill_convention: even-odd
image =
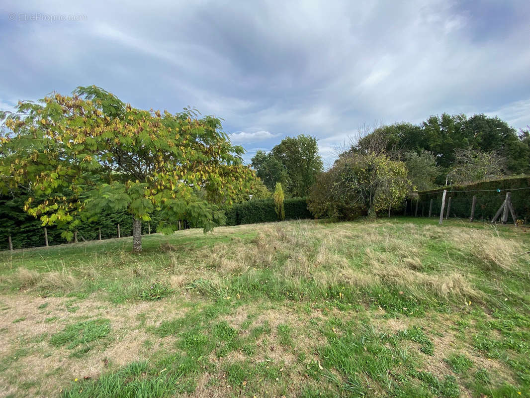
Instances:
[[[218,118],[137,109],[96,86],[21,101],[0,119],[5,212],[22,206],[67,240],[102,214],[126,212],[136,252],[155,213],[159,232],[172,233],[178,220],[209,231],[234,204],[275,192],[279,219],[284,197],[307,197],[315,217],[352,219],[390,212],[419,190],[530,171],[530,127],[517,134],[483,114],[377,126],[326,171],[313,136],[286,137],[245,166]]]

